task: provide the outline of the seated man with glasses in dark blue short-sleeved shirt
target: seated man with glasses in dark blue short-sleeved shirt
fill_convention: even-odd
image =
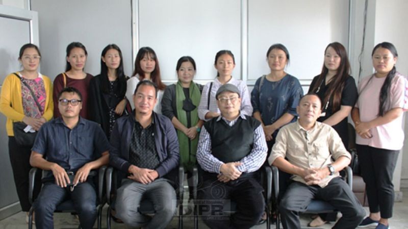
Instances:
[[[97,197],[93,180],[96,172],[91,170],[108,163],[110,144],[99,124],[80,117],[80,91],[67,87],[58,98],[61,117],[41,126],[30,157],[33,167],[46,170],[33,205],[36,227],[54,228],[54,210],[69,197],[81,227],[92,228],[97,218]]]

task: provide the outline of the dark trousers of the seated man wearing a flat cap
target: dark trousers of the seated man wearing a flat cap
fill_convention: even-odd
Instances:
[[[212,229],[250,228],[256,225],[265,210],[263,188],[252,177],[222,183],[203,177],[198,193],[198,214]],[[222,214],[228,203],[236,203],[236,212]]]

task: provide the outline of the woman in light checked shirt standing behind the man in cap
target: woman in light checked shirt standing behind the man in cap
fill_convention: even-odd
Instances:
[[[241,97],[241,113],[252,116],[248,87],[243,81],[233,78],[232,75],[235,68],[234,54],[230,50],[220,50],[215,55],[214,67],[217,69],[217,77],[213,82],[207,83],[202,89],[200,105],[198,106],[198,117],[201,120],[208,121],[220,115],[215,94],[218,88],[224,84],[233,84],[238,87]]]

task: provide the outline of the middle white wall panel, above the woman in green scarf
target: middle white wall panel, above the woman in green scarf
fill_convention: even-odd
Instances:
[[[241,1],[139,0],[139,46],[155,50],[164,81],[176,80],[176,62],[186,55],[196,61],[197,81],[214,79],[221,49],[233,52],[241,79]]]

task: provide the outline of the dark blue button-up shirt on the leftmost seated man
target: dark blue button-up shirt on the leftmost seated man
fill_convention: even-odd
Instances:
[[[101,157],[110,144],[99,124],[84,118],[71,130],[61,117],[44,123],[32,150],[67,171],[76,172],[86,163]],[[47,177],[53,176],[52,172]]]

